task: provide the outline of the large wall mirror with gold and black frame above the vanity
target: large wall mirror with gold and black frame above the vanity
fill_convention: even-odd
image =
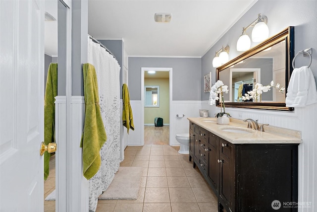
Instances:
[[[290,26],[218,67],[216,79],[222,80],[229,87],[229,92],[223,94],[226,107],[293,111],[294,108],[285,105],[293,58],[294,27]],[[243,100],[243,92],[252,90],[256,83],[265,86],[272,80],[274,85],[279,83],[280,87],[283,86],[285,92],[271,87],[261,94],[260,101]],[[219,102],[217,106],[220,107]]]

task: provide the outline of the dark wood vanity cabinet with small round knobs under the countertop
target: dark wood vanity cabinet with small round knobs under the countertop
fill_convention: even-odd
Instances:
[[[299,143],[231,143],[190,121],[189,160],[218,198],[218,211],[298,211]],[[218,131],[215,131],[218,132]],[[265,135],[264,135],[265,136]]]

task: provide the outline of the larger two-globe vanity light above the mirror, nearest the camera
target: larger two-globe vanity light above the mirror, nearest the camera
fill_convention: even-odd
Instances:
[[[250,37],[246,34],[246,30],[249,27],[254,27],[252,30],[252,41],[261,42],[268,38],[268,27],[266,25],[267,17],[258,14],[258,18],[253,21],[249,26],[242,28],[242,35],[239,37],[237,42],[237,51],[244,52],[249,50],[251,47]]]

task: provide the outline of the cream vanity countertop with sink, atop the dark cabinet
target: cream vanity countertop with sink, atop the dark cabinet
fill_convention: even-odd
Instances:
[[[230,118],[229,125],[216,124],[216,118],[187,118],[189,121],[204,128],[220,138],[233,144],[242,143],[302,143],[302,134],[300,131],[279,128],[275,126],[264,126],[264,131],[257,131],[247,128],[248,123],[240,119]],[[259,123],[259,126],[261,124]],[[223,129],[239,129],[250,132],[248,134],[227,132]]]

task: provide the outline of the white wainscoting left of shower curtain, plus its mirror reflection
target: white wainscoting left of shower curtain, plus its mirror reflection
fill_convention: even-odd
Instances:
[[[84,127],[85,100],[71,97],[71,129],[66,124],[66,97],[55,101],[56,123],[56,211],[87,212],[88,180],[83,176],[81,135]],[[67,133],[70,134],[67,141]],[[66,183],[67,182],[67,183]],[[76,195],[74,195],[76,194]]]

